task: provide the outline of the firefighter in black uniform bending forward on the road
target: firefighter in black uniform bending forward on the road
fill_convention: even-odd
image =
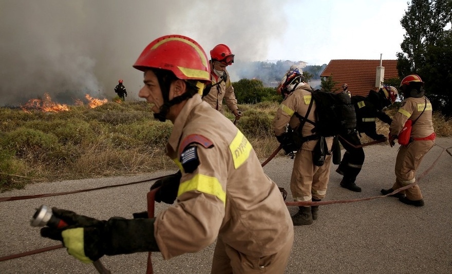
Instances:
[[[388,125],[391,124],[389,117],[384,110],[391,106],[397,99],[397,89],[391,86],[385,86],[378,92],[373,90],[364,96],[354,95],[351,101],[356,112],[356,130],[351,134],[341,134],[339,141],[346,150],[340,165],[336,172],[343,175],[340,185],[354,192],[361,192],[361,187],[357,186],[355,181],[364,163],[364,150],[360,146],[361,133],[366,134],[374,140],[385,139],[383,134],[376,133],[376,118],[379,118]],[[358,134],[360,136],[358,136]]]

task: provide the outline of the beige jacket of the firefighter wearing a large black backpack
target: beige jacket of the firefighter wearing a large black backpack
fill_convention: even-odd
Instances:
[[[283,102],[279,105],[279,109],[276,111],[276,116],[273,119],[273,131],[276,136],[280,136],[286,132],[286,125],[289,123],[292,129],[298,128],[300,125],[300,120],[296,115],[297,112],[299,115],[305,117],[308,112],[309,103],[311,102],[311,93],[309,92],[311,87],[308,83],[305,83],[304,86],[297,87],[291,94],[284,99]],[[312,104],[311,111],[309,112],[308,119],[315,122],[315,102]],[[314,129],[314,125],[305,122],[302,134],[303,137],[312,135],[312,129]],[[331,146],[333,144],[333,138],[327,137],[325,138],[328,145],[328,150],[331,151]],[[313,151],[317,140],[311,140],[304,142],[302,145],[303,150]]]

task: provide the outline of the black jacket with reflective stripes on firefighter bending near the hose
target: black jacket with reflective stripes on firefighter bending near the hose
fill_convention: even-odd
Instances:
[[[365,133],[370,138],[379,139],[376,133],[376,119],[379,118],[388,125],[391,124],[392,119],[382,111],[382,99],[380,94],[375,91],[369,91],[366,97],[355,95],[351,97],[356,112],[356,130],[360,133]]]

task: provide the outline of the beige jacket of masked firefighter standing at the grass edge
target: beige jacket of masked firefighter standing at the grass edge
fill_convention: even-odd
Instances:
[[[226,81],[221,81],[218,85],[213,86],[209,94],[202,98],[203,101],[210,104],[210,106],[217,111],[224,113],[223,111],[223,98],[226,106],[228,106],[231,112],[237,110],[237,99],[235,98],[234,87],[231,84],[229,72],[226,71],[228,78]],[[221,80],[215,73],[211,73],[212,85],[215,85]]]

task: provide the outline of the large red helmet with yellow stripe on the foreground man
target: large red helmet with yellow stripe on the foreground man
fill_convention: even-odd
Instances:
[[[183,35],[165,35],[152,41],[135,62],[134,68],[172,71],[182,80],[212,83],[207,55],[193,39]]]

